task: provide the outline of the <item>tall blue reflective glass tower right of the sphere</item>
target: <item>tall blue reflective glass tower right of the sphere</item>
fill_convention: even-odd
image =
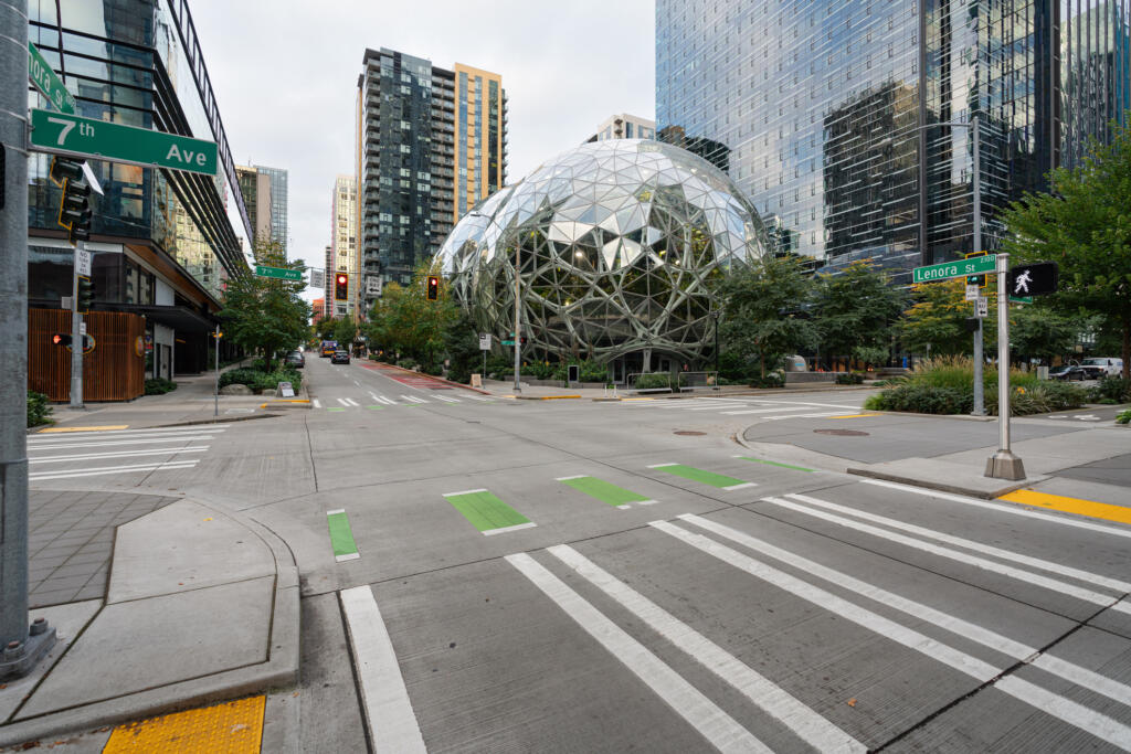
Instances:
[[[1131,0],[656,2],[662,139],[727,171],[784,251],[893,270],[984,246],[1000,209],[1131,106]]]

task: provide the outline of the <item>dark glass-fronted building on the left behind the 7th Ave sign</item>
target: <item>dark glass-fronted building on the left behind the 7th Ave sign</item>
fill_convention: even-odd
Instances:
[[[92,314],[89,321],[95,329],[102,321],[116,322],[118,328],[89,359],[110,358],[110,344],[121,332],[136,330],[141,338],[118,344],[122,362],[95,364],[92,374],[101,370],[121,378],[140,370],[145,376],[171,378],[201,371],[225,280],[248,274],[238,229],[247,237],[252,233],[187,3],[32,2],[28,31],[75,96],[78,114],[217,142],[215,176],[89,161],[105,192],[92,194],[87,250],[93,258],[93,314],[103,317]],[[28,105],[48,106],[32,88]],[[50,164],[51,157],[42,154],[28,161],[33,345],[50,337],[36,328],[69,322],[61,304],[70,296],[74,276],[72,246],[55,223],[60,189],[49,179]],[[45,353],[46,358],[60,357]],[[36,363],[38,357],[33,352],[33,383],[50,371]],[[66,388],[67,380],[62,382]],[[49,390],[51,385],[32,387],[66,399]],[[85,397],[136,397],[111,392],[90,385]]]

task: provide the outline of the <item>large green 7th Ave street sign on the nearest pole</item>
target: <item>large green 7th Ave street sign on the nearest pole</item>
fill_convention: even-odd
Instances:
[[[32,148],[144,167],[216,175],[216,144],[49,110],[32,111]]]

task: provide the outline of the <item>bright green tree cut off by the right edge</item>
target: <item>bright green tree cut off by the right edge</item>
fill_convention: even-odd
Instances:
[[[1003,250],[1017,261],[1060,265],[1061,306],[1100,313],[1122,335],[1131,376],[1131,127],[1112,124],[1083,163],[1048,174],[1051,193],[1026,193],[1002,214]]]

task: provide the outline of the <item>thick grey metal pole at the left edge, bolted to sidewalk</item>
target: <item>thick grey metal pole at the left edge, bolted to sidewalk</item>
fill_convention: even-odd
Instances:
[[[0,681],[55,642],[27,615],[27,0],[0,0]],[[10,692],[9,692],[10,693]]]

